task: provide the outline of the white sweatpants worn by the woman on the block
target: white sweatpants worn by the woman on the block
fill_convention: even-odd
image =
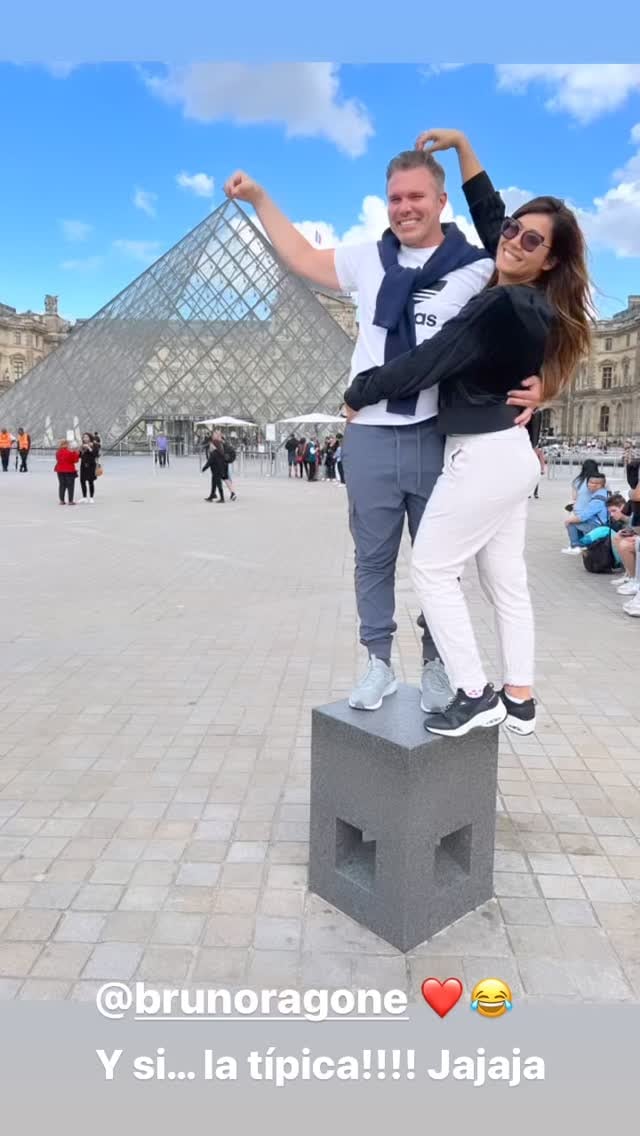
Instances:
[[[526,499],[539,476],[529,434],[520,426],[447,438],[444,468],[414,542],[412,578],[454,690],[487,685],[460,586],[472,557],[496,613],[502,682],[533,683],[524,541]]]

